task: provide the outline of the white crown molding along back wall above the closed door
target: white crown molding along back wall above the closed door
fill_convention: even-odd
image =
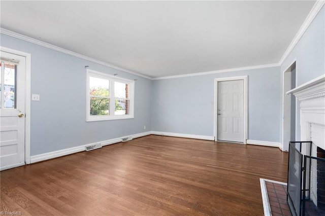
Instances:
[[[167,77],[156,77],[156,78],[152,78],[152,80],[165,80],[165,79],[174,79],[174,78],[181,78],[181,77],[202,76],[202,75],[209,75],[209,74],[233,72],[233,71],[239,71],[239,70],[251,70],[251,69],[259,69],[259,68],[266,68],[266,67],[278,67],[278,66],[280,66],[279,63],[263,64],[263,65],[255,65],[255,66],[248,66],[248,67],[237,67],[237,68],[222,69],[222,70],[212,70],[212,71],[193,73],[193,74],[183,74],[183,75],[175,75],[175,76],[167,76]]]

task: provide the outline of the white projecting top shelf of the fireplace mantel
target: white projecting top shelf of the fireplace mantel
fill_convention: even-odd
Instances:
[[[287,94],[294,94],[299,100],[306,100],[325,96],[325,75],[317,77],[297,88],[294,88]]]

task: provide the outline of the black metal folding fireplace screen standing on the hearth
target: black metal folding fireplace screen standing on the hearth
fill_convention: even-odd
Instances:
[[[287,202],[293,215],[325,215],[325,159],[311,152],[311,141],[289,142]]]

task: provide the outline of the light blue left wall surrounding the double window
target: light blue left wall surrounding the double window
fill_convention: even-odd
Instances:
[[[1,46],[31,54],[31,156],[151,129],[151,80],[1,34]],[[135,82],[135,118],[86,122],[86,70]],[[146,126],[146,130],[143,126]]]

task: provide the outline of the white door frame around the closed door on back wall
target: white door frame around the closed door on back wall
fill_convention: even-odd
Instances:
[[[240,77],[226,77],[226,78],[216,78],[214,79],[214,141],[218,141],[218,82],[222,81],[234,81],[234,80],[243,80],[244,81],[244,117],[243,117],[243,143],[247,143],[247,76]]]

